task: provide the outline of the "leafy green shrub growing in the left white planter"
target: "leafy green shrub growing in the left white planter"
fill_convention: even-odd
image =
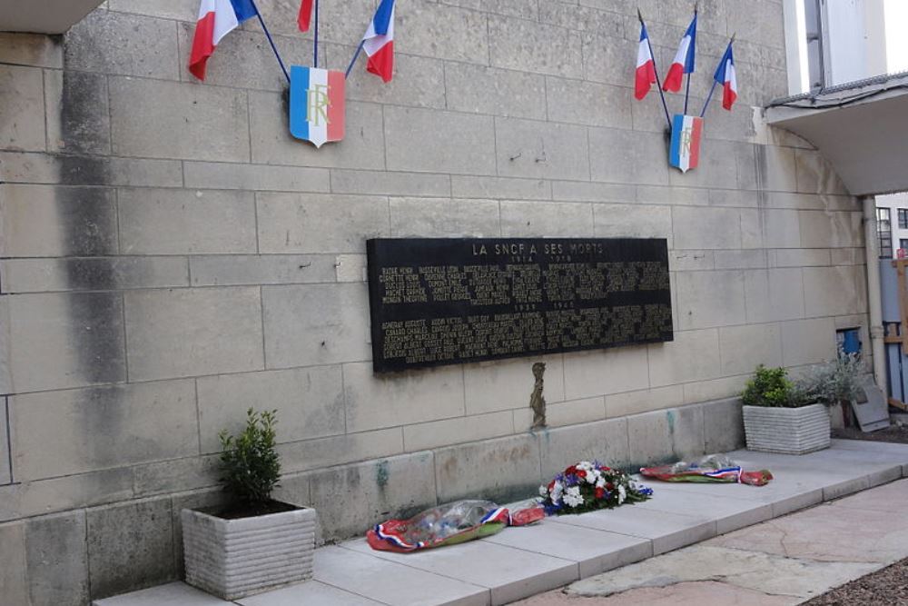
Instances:
[[[240,502],[261,504],[281,478],[281,462],[274,450],[277,411],[246,412],[246,428],[236,436],[220,432],[224,489]]]

